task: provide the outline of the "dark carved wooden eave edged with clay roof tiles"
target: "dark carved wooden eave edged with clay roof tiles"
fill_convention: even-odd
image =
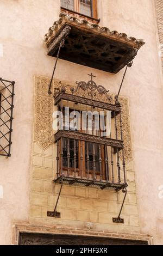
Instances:
[[[45,35],[49,56],[57,56],[60,42],[65,37],[59,58],[111,73],[126,66],[145,44],[142,39],[60,13],[59,20]]]

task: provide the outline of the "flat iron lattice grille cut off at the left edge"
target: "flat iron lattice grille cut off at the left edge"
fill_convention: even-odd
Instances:
[[[14,81],[0,78],[0,156],[11,156]]]

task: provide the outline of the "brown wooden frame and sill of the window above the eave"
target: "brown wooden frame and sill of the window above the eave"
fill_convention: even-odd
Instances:
[[[92,17],[91,16],[87,16],[85,14],[80,13],[80,0],[74,0],[74,10],[70,10],[64,7],[61,7],[61,11],[78,17],[78,18],[82,18],[85,19],[87,21],[91,21],[93,23],[99,23],[100,19],[98,19],[98,14],[97,14],[97,0],[92,0]]]

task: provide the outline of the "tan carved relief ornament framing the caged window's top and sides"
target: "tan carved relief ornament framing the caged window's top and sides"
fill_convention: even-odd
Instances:
[[[35,127],[34,127],[34,139],[37,141],[43,149],[46,149],[49,145],[53,144],[53,130],[52,130],[52,114],[53,114],[53,96],[48,95],[48,84],[49,79],[45,77],[36,77],[35,78]],[[71,88],[74,89],[77,87],[76,84],[70,84],[67,82],[60,82],[58,80],[53,81],[54,95],[55,89],[57,88],[66,88],[66,93],[72,93]],[[110,95],[110,99],[114,99],[114,95]],[[78,90],[78,96],[87,97],[89,99],[90,95],[87,95],[87,91],[81,89]],[[108,102],[106,95],[100,95],[96,93],[94,96],[95,100],[102,102]],[[122,130],[123,130],[123,141],[124,141],[124,157],[126,161],[129,161],[132,158],[131,151],[131,135],[130,135],[130,122],[129,122],[129,106],[128,100],[120,97],[119,101],[122,105]],[[109,102],[112,103],[112,102]],[[118,136],[120,138],[120,123],[117,120],[118,125]],[[121,153],[120,153],[121,156]]]

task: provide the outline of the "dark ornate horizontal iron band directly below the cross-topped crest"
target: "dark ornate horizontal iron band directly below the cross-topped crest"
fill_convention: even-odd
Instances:
[[[73,95],[73,94],[67,94],[67,93],[58,94],[54,98],[54,104],[57,105],[61,100],[72,101],[72,102],[81,103],[81,104],[87,105],[87,106],[107,109],[110,111],[115,111],[116,113],[121,112],[121,106],[102,102],[102,101],[87,99],[85,97],[81,97],[81,96],[77,96],[77,95]]]

